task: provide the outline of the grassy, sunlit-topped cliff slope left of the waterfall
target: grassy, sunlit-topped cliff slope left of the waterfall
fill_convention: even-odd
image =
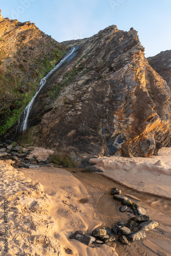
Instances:
[[[18,120],[39,80],[65,51],[33,23],[0,15],[0,135]]]

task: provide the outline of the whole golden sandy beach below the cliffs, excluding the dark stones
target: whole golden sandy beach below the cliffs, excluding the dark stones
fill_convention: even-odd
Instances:
[[[159,160],[164,167],[152,170]],[[147,159],[115,157],[92,161],[97,161],[97,166],[104,171],[102,175],[83,173],[79,168],[49,166],[15,170],[1,161],[2,255],[171,255],[169,149],[163,148],[159,156]],[[110,169],[111,165],[117,168]],[[128,171],[131,166],[133,170]],[[130,175],[133,172],[136,175]],[[160,183],[156,177],[161,178]],[[139,185],[142,181],[144,187]],[[110,195],[111,188],[116,186],[123,195],[140,204],[159,227],[147,231],[145,239],[130,242],[130,245],[116,241],[116,251],[108,245],[88,247],[69,239],[76,230],[91,233],[95,228],[112,227],[117,221],[126,222],[132,216],[129,212],[121,213],[121,203]],[[4,200],[9,204],[8,252],[3,251]]]

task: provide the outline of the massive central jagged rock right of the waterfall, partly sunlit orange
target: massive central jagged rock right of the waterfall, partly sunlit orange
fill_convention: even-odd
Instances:
[[[45,86],[46,95],[55,84],[60,94],[34,128],[38,137],[32,129],[33,145],[50,147],[56,162],[73,165],[85,155],[148,157],[157,142],[170,145],[170,90],[149,66],[135,30],[110,26],[62,44],[79,51],[67,73],[57,71]],[[47,96],[41,99],[47,104]]]

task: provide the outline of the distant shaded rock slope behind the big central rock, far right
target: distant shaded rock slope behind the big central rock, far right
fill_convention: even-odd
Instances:
[[[147,58],[152,68],[166,80],[171,88],[171,50],[160,52],[154,57]]]

